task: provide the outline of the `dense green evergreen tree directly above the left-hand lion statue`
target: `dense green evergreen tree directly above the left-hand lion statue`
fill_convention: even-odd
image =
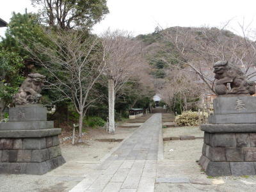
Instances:
[[[49,43],[45,38],[42,26],[39,24],[38,15],[27,12],[24,14],[13,12],[5,38],[2,38],[1,47],[6,51],[15,52],[22,58],[25,66],[23,68],[25,76],[31,72],[34,62],[24,45],[33,49],[35,42],[40,44]]]

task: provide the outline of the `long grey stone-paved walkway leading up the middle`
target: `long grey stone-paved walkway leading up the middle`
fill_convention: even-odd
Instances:
[[[154,114],[70,191],[154,191],[161,128],[161,113]]]

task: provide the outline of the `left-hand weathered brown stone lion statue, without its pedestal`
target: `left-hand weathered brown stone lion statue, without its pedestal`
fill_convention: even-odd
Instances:
[[[42,87],[44,86],[45,76],[41,74],[29,74],[28,78],[22,83],[19,92],[13,96],[15,104],[36,104],[42,97]]]

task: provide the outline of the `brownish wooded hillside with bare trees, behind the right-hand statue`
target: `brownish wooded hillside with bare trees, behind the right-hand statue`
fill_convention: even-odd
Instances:
[[[213,93],[212,64],[216,61],[227,60],[249,79],[256,74],[255,42],[225,29],[156,28],[154,33],[136,39],[143,42],[156,92],[177,106],[176,111],[191,109],[189,105],[195,106],[202,95]]]

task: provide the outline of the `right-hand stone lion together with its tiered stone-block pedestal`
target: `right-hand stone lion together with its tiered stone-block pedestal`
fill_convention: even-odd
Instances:
[[[256,97],[255,83],[227,61],[214,64],[214,113],[202,124],[204,145],[199,164],[207,175],[256,174]],[[228,90],[230,83],[231,90]]]

